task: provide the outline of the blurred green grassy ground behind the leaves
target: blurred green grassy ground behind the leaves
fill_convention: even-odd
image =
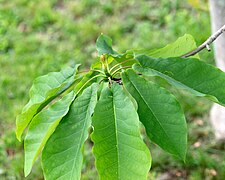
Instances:
[[[197,44],[210,35],[204,0],[0,0],[0,179],[43,179],[40,161],[23,176],[23,144],[15,137],[15,117],[28,101],[37,76],[96,58],[95,41],[103,32],[114,49],[157,48],[189,33]],[[213,53],[202,51],[214,63]],[[146,140],[153,157],[149,179],[225,179],[225,146],[216,143],[208,122],[210,102],[171,89],[188,121],[186,164]],[[98,179],[85,149],[82,179]]]

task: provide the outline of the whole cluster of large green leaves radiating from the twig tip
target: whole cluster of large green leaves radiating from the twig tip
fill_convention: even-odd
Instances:
[[[37,78],[16,120],[19,140],[27,129],[25,176],[41,154],[45,179],[80,179],[91,128],[100,179],[146,179],[152,159],[140,122],[152,142],[185,161],[183,110],[173,94],[148,77],[225,105],[225,73],[198,55],[181,58],[195,47],[186,34],[161,49],[120,54],[102,34],[96,41],[99,58],[88,72],[79,71],[78,64]]]

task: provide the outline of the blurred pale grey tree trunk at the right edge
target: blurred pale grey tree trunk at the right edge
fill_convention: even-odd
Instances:
[[[215,32],[225,24],[225,0],[210,0],[212,31]],[[214,42],[216,65],[225,71],[225,34]],[[225,82],[224,82],[225,83]],[[214,104],[210,112],[210,121],[218,140],[225,140],[225,108]]]

